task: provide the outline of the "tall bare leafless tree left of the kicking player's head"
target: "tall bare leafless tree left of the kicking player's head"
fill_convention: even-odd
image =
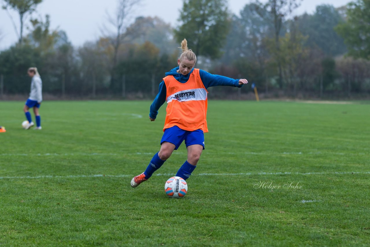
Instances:
[[[109,27],[103,26],[102,33],[110,37],[113,46],[113,57],[111,66],[111,83],[114,77],[114,68],[118,63],[118,50],[123,43],[124,38],[128,35],[127,28],[133,17],[134,9],[142,0],[117,0],[117,9],[112,15],[107,12]]]

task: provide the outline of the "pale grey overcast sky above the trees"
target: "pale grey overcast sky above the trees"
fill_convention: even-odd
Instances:
[[[252,0],[229,0],[229,9],[239,14],[243,6],[250,2]],[[294,14],[313,13],[319,4],[332,4],[334,7],[340,7],[349,2],[349,0],[303,0]],[[0,0],[0,3],[2,5],[3,1]],[[73,45],[80,46],[85,41],[95,40],[100,36],[99,28],[107,22],[105,12],[113,13],[116,3],[117,0],[43,0],[33,17],[44,17],[49,14],[51,28],[66,31]],[[175,27],[181,7],[182,0],[142,0],[135,15],[159,16]],[[12,10],[10,13],[19,27],[18,15]],[[27,21],[26,25],[29,25],[28,23]],[[3,34],[3,39],[0,40],[0,50],[8,48],[17,41],[10,17],[3,9],[0,9],[0,32]],[[27,32],[25,29],[24,33]]]

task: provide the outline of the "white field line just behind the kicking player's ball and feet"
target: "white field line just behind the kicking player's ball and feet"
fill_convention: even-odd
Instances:
[[[334,172],[259,172],[259,173],[200,173],[195,176],[253,176],[253,175],[315,175],[315,174],[370,174],[370,171],[334,171]],[[174,173],[158,173],[155,176],[174,176]],[[40,176],[14,176],[14,177],[0,177],[0,179],[37,179],[37,178],[91,178],[91,177],[132,177],[134,175],[121,174],[121,175],[67,175],[67,176],[53,176],[53,175],[40,175]]]

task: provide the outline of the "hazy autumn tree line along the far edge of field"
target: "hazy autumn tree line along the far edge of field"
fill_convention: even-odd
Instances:
[[[50,16],[29,18],[41,1],[4,0],[3,8],[17,11],[21,23],[14,24],[17,43],[0,52],[4,94],[27,93],[26,70],[35,66],[47,94],[148,97],[176,66],[184,38],[198,56],[196,67],[247,78],[270,97],[370,93],[370,0],[319,5],[300,16],[293,16],[300,0],[255,0],[238,15],[229,12],[227,0],[184,0],[176,27],[159,17],[131,21],[141,0],[117,0],[101,37],[80,47],[65,31],[50,29]],[[232,89],[212,90],[221,96]]]

